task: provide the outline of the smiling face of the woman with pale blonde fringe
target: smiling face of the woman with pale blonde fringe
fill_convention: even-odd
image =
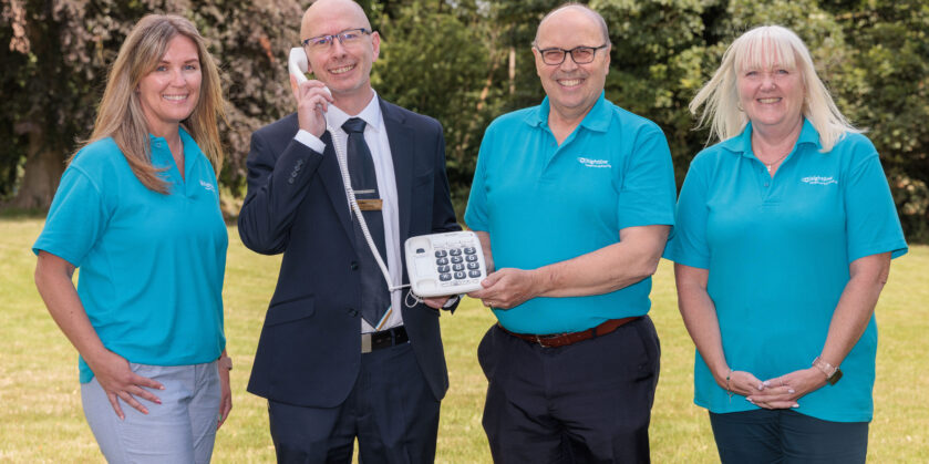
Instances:
[[[768,48],[758,60],[745,60],[737,66],[739,101],[753,127],[788,130],[799,124],[806,91],[803,73],[789,58],[787,52]]]

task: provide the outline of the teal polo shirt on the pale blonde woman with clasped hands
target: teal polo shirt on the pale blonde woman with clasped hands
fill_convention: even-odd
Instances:
[[[749,124],[693,159],[664,257],[709,269],[726,361],[764,380],[807,369],[820,353],[853,261],[887,251],[896,258],[907,244],[877,151],[864,135],[847,134],[820,153],[819,134],[805,121],[773,178],[751,141]],[[801,398],[795,411],[870,421],[876,349],[871,317],[842,362],[842,381]],[[730,401],[700,353],[694,402],[715,413],[755,409],[741,396]]]

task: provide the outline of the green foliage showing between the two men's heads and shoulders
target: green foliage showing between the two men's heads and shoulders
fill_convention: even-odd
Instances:
[[[381,16],[372,84],[389,101],[443,123],[446,168],[460,197],[474,174],[479,130],[496,114],[487,95],[482,97],[493,56],[483,43],[485,24],[473,10],[441,6],[411,2],[395,8],[393,18]]]

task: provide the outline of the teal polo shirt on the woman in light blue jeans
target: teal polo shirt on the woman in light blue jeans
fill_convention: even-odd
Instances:
[[[130,362],[210,362],[226,346],[223,277],[228,237],[213,165],[183,128],[185,177],[164,138],[163,195],[145,188],[112,138],[81,149],[61,178],[33,251],[80,268],[78,295],[103,344]],[[80,360],[81,382],[93,372]]]

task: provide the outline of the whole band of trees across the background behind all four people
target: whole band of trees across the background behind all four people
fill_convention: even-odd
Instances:
[[[231,103],[228,125],[221,127],[229,153],[221,177],[227,193],[242,193],[251,131],[292,111],[283,60],[298,41],[307,2],[0,1],[0,136],[7,142],[0,147],[0,198],[17,193],[22,197],[30,183],[56,182],[61,161],[76,138],[90,133],[107,64],[132,24],[147,12],[179,12],[193,19],[225,70]],[[530,43],[539,20],[561,0],[360,3],[383,39],[372,82],[384,97],[443,123],[453,197],[462,207],[487,124],[544,97]],[[694,131],[688,103],[716,69],[726,45],[758,24],[778,23],[796,31],[840,110],[868,130],[880,152],[908,237],[929,240],[925,0],[589,4],[607,20],[613,45],[607,97],[662,127],[679,182],[708,143],[705,131]],[[50,194],[34,189],[32,196],[41,198],[33,203],[41,206]]]

